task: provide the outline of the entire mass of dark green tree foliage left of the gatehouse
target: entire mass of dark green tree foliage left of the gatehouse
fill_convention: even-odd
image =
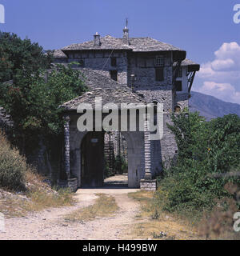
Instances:
[[[38,146],[40,135],[45,142],[58,137],[62,133],[58,106],[86,90],[81,72],[71,69],[72,64],[50,70],[50,61],[50,54],[44,54],[38,43],[0,33],[0,66],[4,67],[0,106],[14,121],[15,145],[22,152],[26,145]]]

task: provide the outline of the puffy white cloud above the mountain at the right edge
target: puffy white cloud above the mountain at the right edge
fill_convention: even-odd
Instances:
[[[214,55],[212,62],[201,65],[198,78],[202,78],[203,86],[198,91],[240,104],[240,46],[225,42]]]

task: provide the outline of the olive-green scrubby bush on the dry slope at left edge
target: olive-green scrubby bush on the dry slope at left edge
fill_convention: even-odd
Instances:
[[[11,149],[0,132],[0,186],[8,190],[25,190],[26,170],[25,158],[18,150]]]

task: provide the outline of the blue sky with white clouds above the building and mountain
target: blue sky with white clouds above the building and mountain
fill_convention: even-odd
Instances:
[[[0,30],[58,49],[102,36],[152,37],[187,51],[202,70],[193,90],[240,103],[240,23],[233,21],[240,0],[0,0],[6,23]]]

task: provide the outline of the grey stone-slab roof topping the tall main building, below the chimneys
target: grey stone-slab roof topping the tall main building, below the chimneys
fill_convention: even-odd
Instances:
[[[159,42],[153,38],[129,38],[130,45],[127,45],[123,38],[114,38],[110,35],[106,35],[100,40],[100,46],[94,46],[94,40],[92,40],[88,42],[74,43],[70,46],[63,47],[61,50],[132,50],[134,52],[181,50],[165,42]]]

